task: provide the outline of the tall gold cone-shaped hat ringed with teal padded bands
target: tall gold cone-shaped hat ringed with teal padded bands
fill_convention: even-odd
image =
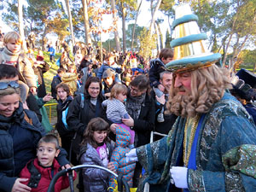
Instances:
[[[193,71],[201,67],[210,67],[221,55],[207,50],[204,40],[206,33],[201,33],[197,25],[198,17],[192,14],[189,4],[180,3],[175,9],[172,23],[175,38],[171,42],[174,48],[173,61],[166,64],[172,72]]]

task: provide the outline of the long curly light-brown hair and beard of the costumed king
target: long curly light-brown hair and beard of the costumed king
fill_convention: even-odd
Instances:
[[[224,90],[231,87],[228,70],[216,65],[197,69],[190,73],[191,91],[186,90],[185,87],[174,88],[174,75],[167,102],[169,112],[183,118],[209,112],[212,105],[224,96]],[[189,94],[177,95],[179,89],[186,90]]]

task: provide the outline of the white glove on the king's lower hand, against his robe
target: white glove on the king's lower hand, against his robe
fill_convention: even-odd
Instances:
[[[172,166],[170,169],[171,180],[177,188],[188,189],[188,168],[183,166]],[[172,183],[172,182],[171,182]]]

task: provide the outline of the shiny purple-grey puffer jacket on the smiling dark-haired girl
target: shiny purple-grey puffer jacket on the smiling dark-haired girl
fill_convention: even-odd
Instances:
[[[108,160],[113,152],[113,145],[107,144]],[[81,148],[80,162],[84,165],[103,166],[96,148],[89,143]],[[107,168],[107,167],[106,167]],[[84,168],[83,170],[84,192],[107,192],[110,173],[97,168]]]

